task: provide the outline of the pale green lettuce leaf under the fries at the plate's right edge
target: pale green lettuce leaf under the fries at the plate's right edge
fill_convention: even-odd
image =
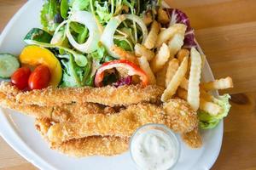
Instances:
[[[218,125],[218,122],[222,120],[225,116],[228,116],[230,111],[230,103],[229,103],[230,95],[224,94],[223,96],[219,96],[218,99],[214,99],[213,102],[219,105],[222,108],[222,111],[218,113],[216,116],[212,116],[206,111],[199,110],[198,117],[199,117],[199,125],[201,129],[208,129],[213,128]]]

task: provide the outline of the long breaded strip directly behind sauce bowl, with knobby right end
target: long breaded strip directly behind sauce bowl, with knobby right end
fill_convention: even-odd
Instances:
[[[147,123],[165,124],[177,133],[188,133],[198,126],[196,112],[182,99],[172,99],[161,106],[152,104],[130,105],[111,115],[84,115],[80,122],[61,122],[49,127],[49,141],[61,143],[87,136],[118,136],[129,138],[137,127]]]

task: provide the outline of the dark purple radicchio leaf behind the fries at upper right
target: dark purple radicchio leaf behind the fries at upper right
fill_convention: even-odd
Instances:
[[[190,26],[189,17],[177,8],[166,8],[166,11],[171,19],[170,26],[177,23],[187,26],[183,48],[196,48],[197,44],[195,42],[195,31]]]

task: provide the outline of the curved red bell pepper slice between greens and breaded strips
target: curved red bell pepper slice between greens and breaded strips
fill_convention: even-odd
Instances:
[[[128,71],[129,76],[138,75],[142,80],[143,86],[148,85],[148,76],[146,73],[137,65],[126,59],[116,59],[104,63],[96,72],[95,85],[96,87],[102,87],[102,81],[104,78],[105,71],[113,69],[115,67],[121,67]]]

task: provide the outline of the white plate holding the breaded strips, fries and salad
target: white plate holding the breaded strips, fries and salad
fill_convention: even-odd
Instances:
[[[0,37],[0,52],[20,54],[26,45],[22,39],[32,27],[40,27],[39,11],[41,0],[30,0],[10,20]],[[203,69],[203,77],[213,80],[208,64]],[[27,161],[41,169],[135,169],[128,152],[113,157],[73,158],[50,150],[33,125],[33,118],[15,111],[0,110],[0,134]],[[222,143],[223,122],[212,130],[202,132],[203,146],[191,150],[182,143],[180,160],[175,169],[209,169],[218,157]]]

